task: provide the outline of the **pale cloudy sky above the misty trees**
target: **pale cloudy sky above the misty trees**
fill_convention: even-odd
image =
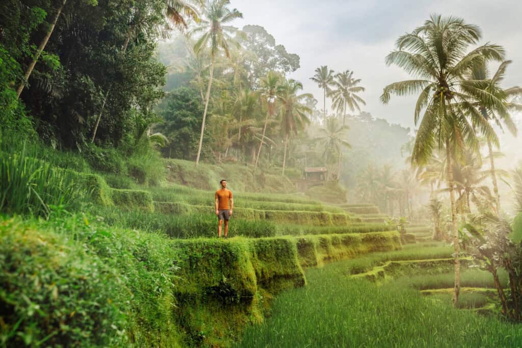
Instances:
[[[401,34],[422,25],[433,13],[462,17],[482,29],[481,43],[504,46],[507,59],[513,61],[504,86],[522,86],[522,1],[231,0],[230,7],[243,13],[234,26],[262,26],[276,43],[301,57],[301,67],[291,77],[314,94],[318,109],[322,109],[323,92],[310,80],[315,68],[349,69],[366,88],[361,94],[366,101],[363,111],[413,130],[414,97],[393,97],[387,105],[379,101],[386,85],[410,78],[395,66],[387,67],[384,59]],[[328,99],[326,105],[329,109]],[[522,119],[522,115],[515,117]]]

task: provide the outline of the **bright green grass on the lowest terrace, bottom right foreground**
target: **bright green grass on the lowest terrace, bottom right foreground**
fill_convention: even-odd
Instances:
[[[343,276],[353,262],[307,270],[308,285],[280,294],[271,317],[249,327],[236,346],[515,347],[522,342],[517,325],[458,310],[400,282],[376,286]]]

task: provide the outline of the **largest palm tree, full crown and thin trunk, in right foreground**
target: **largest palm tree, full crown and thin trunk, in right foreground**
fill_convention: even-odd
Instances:
[[[495,145],[499,143],[491,125],[473,106],[473,101],[479,100],[495,112],[506,111],[501,100],[480,88],[483,81],[462,78],[467,71],[482,62],[504,59],[502,47],[490,43],[466,52],[480,38],[480,29],[461,18],[432,15],[421,27],[399,37],[397,50],[386,57],[387,65],[395,64],[404,68],[417,79],[392,83],[384,88],[381,96],[382,102],[387,103],[391,94],[420,93],[414,111],[416,125],[421,111],[424,114],[413,146],[414,162],[426,163],[434,148],[443,148],[445,144],[455,245],[455,304],[460,292],[460,247],[451,161],[454,153],[460,152],[466,144],[473,149],[478,148],[475,127]]]

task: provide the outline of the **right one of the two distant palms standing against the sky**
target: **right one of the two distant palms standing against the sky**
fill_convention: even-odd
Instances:
[[[357,86],[361,82],[361,79],[353,79],[353,71],[346,70],[342,73],[335,75],[334,80],[331,82],[331,86],[334,90],[331,90],[329,97],[332,98],[332,107],[336,109],[342,116],[342,124],[346,123],[346,109],[347,106],[351,111],[357,109],[361,111],[359,103],[366,105],[366,102],[355,93],[364,92],[364,87]]]

